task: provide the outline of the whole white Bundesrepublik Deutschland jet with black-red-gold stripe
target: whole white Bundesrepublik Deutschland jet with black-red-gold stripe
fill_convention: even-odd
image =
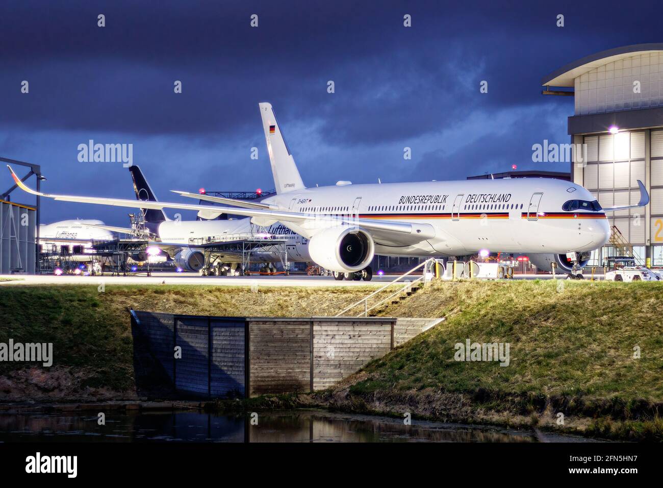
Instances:
[[[606,212],[644,206],[640,186],[636,205],[601,208],[575,183],[556,179],[495,179],[306,188],[271,104],[259,104],[276,195],[261,203],[207,197],[240,208],[150,202],[147,208],[208,209],[250,216],[259,225],[281,222],[309,240],[316,264],[337,279],[372,274],[374,254],[466,256],[493,252],[546,254],[556,262],[582,266],[589,252],[607,242]],[[10,168],[11,170],[11,168]],[[12,171],[21,189],[60,201],[136,206],[135,201],[37,193]],[[178,191],[180,195],[201,196]]]

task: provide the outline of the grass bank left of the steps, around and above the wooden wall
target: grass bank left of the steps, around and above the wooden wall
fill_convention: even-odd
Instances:
[[[0,342],[53,343],[51,368],[0,363],[0,399],[106,398],[134,384],[128,310],[192,315],[334,315],[374,287],[192,285],[5,285],[0,287]],[[4,378],[3,378],[4,376]],[[101,395],[103,396],[103,395]],[[55,399],[57,399],[56,396]]]

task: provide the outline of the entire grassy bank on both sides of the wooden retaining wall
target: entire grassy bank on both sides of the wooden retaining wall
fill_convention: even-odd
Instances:
[[[558,286],[562,286],[560,289]],[[374,288],[0,286],[0,342],[53,342],[56,365],[89,368],[91,386],[133,386],[127,309],[210,315],[330,315]],[[455,282],[383,312],[448,317],[371,363],[349,391],[461,394],[492,411],[637,417],[663,403],[663,284]],[[453,346],[509,342],[511,365],[453,361]],[[633,347],[642,358],[633,359]],[[24,364],[0,363],[0,374]],[[429,397],[430,398],[430,397]],[[598,410],[597,410],[598,408]],[[648,409],[648,410],[647,410]],[[619,413],[621,412],[621,414]],[[631,412],[631,413],[629,413]],[[660,430],[660,426],[659,426]]]

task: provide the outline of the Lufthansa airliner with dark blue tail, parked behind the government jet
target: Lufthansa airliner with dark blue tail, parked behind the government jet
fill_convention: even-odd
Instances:
[[[156,237],[158,241],[150,242],[150,247],[158,247],[172,258],[176,266],[182,270],[197,272],[201,270],[205,263],[205,249],[202,246],[202,241],[207,238],[219,238],[219,240],[233,240],[239,238],[246,238],[251,236],[253,238],[262,238],[269,240],[276,238],[286,242],[286,252],[288,253],[288,260],[293,262],[308,262],[307,240],[298,236],[292,230],[282,225],[273,225],[267,228],[267,232],[255,232],[251,226],[250,218],[228,218],[223,220],[171,220],[166,216],[165,212],[158,208],[145,208],[143,202],[158,202],[152,187],[148,183],[143,171],[136,166],[129,167],[131,178],[133,180],[133,188],[136,194],[137,201],[141,202],[140,206],[143,216],[145,218],[145,226]],[[204,195],[199,195],[204,198]],[[136,202],[135,202],[136,203]],[[136,206],[134,204],[133,206]],[[198,206],[198,208],[201,208]],[[196,208],[198,210],[198,208]],[[204,218],[215,218],[219,214],[224,213],[222,210],[217,210],[219,207],[214,207],[212,212],[209,209],[203,209],[198,212],[199,216]],[[131,234],[131,228],[105,226],[103,224],[97,225],[99,228],[113,230],[114,232],[123,232]],[[192,244],[194,242],[194,244]],[[200,245],[196,245],[198,243]],[[211,256],[212,272],[217,274],[235,274],[238,265],[243,260],[242,252],[215,252]],[[255,262],[264,262],[275,264],[278,262],[278,256],[272,253],[256,253],[253,254],[252,260]]]

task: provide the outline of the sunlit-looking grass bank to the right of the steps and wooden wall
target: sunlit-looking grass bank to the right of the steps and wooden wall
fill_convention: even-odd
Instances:
[[[447,320],[370,363],[335,399],[355,410],[549,428],[561,412],[567,430],[663,440],[662,305],[658,283],[430,285],[383,315]],[[509,366],[455,361],[466,339],[509,343]]]

